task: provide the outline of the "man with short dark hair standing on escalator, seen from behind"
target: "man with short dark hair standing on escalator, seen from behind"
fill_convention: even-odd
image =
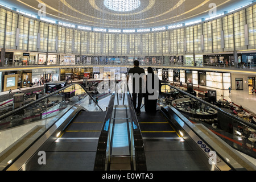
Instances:
[[[144,69],[139,67],[138,60],[135,60],[133,64],[134,67],[129,70],[127,75],[127,85],[132,96],[134,109],[136,114],[139,115],[141,114],[143,93],[146,93],[146,75]],[[137,98],[138,105],[136,107]]]

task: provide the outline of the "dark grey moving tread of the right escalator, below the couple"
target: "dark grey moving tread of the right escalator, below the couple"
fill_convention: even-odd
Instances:
[[[164,108],[162,108],[164,109]],[[191,143],[181,138],[162,110],[138,116],[150,171],[209,170]]]

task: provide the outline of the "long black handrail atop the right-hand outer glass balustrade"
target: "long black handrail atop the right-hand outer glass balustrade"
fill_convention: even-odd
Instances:
[[[217,111],[219,111],[219,112],[221,112],[221,113],[223,113],[223,114],[225,114],[225,115],[228,115],[228,117],[234,119],[234,120],[237,121],[238,123],[240,123],[240,124],[242,124],[242,125],[245,125],[245,126],[247,126],[247,127],[250,127],[251,129],[256,130],[256,125],[254,125],[254,124],[252,124],[252,123],[249,123],[249,122],[246,122],[246,121],[243,121],[242,119],[236,117],[235,115],[230,114],[230,113],[227,113],[226,111],[222,110],[220,107],[214,106],[214,105],[210,104],[210,103],[207,102],[207,101],[204,101],[204,100],[202,100],[202,99],[200,99],[200,98],[198,98],[198,97],[193,96],[192,94],[189,94],[188,92],[185,92],[184,90],[177,89],[175,86],[172,86],[172,85],[170,85],[170,84],[162,84],[162,85],[170,86],[171,88],[178,90],[180,93],[183,93],[183,94],[185,94],[185,95],[187,95],[187,96],[189,96],[189,97],[191,97],[191,98],[193,98],[193,99],[195,99],[195,100],[197,100],[197,101],[203,103],[204,105],[207,105],[207,106],[211,107],[211,108],[214,109],[214,110],[217,110]]]

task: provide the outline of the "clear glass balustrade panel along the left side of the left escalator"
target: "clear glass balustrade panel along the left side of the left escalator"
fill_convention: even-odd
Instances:
[[[80,84],[72,84],[47,95],[15,94],[14,100],[14,108],[17,109],[0,117],[0,169],[13,162],[71,107],[81,105],[88,111],[101,110]],[[19,107],[25,101],[31,104]]]

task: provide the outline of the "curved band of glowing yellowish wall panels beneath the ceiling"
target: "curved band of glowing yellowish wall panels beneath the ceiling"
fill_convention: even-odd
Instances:
[[[3,8],[0,15],[0,46],[20,51],[149,57],[256,48],[256,5],[189,27],[177,23],[125,30],[55,24],[48,18],[34,19]]]

